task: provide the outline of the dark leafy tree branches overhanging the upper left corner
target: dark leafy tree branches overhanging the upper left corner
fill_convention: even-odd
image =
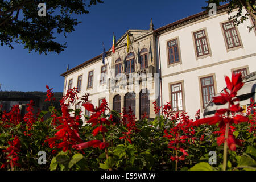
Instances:
[[[23,44],[30,52],[60,53],[66,43],[56,42],[54,33],[75,31],[77,19],[71,14],[88,14],[88,8],[101,0],[45,0],[46,16],[39,16],[39,0],[0,0],[0,44],[13,49],[13,42]]]

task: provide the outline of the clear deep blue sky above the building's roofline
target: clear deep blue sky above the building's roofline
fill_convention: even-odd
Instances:
[[[100,55],[102,42],[106,49],[112,47],[113,32],[119,39],[128,29],[148,29],[150,18],[159,28],[199,13],[205,5],[205,0],[105,0],[92,6],[89,14],[76,16],[82,23],[67,38],[58,36],[59,42],[67,42],[60,55],[28,53],[21,44],[13,44],[13,50],[0,46],[1,90],[46,91],[47,84],[54,92],[63,92],[64,77],[60,74],[67,65],[73,68]]]

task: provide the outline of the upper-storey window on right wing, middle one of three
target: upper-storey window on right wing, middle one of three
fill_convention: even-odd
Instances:
[[[195,38],[197,56],[208,55],[210,52],[207,44],[207,37],[205,35],[205,31],[200,30],[200,31],[194,32],[194,38]]]

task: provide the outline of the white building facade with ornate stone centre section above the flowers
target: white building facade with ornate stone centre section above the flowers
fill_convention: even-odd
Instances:
[[[115,53],[106,52],[105,65],[98,55],[61,74],[63,94],[77,87],[79,97],[90,93],[96,106],[104,98],[119,112],[130,106],[137,119],[155,117],[155,100],[158,105],[171,102],[174,112],[186,111],[191,117],[198,109],[203,113],[225,87],[225,75],[256,70],[255,29],[247,29],[253,23],[247,20],[237,27],[227,11],[223,5],[214,16],[202,12],[156,30],[151,20],[149,30],[128,30]]]

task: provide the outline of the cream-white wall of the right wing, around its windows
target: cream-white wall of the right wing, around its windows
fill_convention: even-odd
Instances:
[[[245,13],[245,10],[244,12]],[[233,13],[234,14],[234,13]],[[243,67],[248,65],[249,71],[256,71],[256,38],[255,32],[247,29],[247,26],[251,26],[250,20],[246,20],[245,23],[238,26],[238,31],[241,35],[243,48],[235,51],[226,51],[224,36],[222,35],[220,22],[228,20],[229,15],[221,14],[214,18],[207,20],[200,20],[197,23],[191,23],[184,28],[177,28],[170,32],[160,35],[160,56],[162,67],[162,84],[163,84],[163,103],[170,100],[170,93],[168,89],[168,83],[179,80],[184,80],[184,92],[185,92],[185,107],[188,114],[194,118],[196,111],[201,108],[200,105],[200,87],[199,76],[208,75],[209,73],[215,73],[217,92],[220,92],[225,87],[224,75],[231,76],[231,69],[237,67]],[[196,60],[192,32],[201,28],[207,28],[209,37],[210,48],[212,50],[212,56],[204,59]],[[167,48],[166,40],[170,40],[179,36],[181,60],[182,64],[167,67]],[[254,54],[254,55],[253,55]],[[248,55],[251,55],[249,57]],[[253,55],[253,56],[252,56]],[[248,56],[236,60],[238,57]],[[228,63],[222,63],[218,65],[210,65],[220,63],[221,61],[229,60]],[[206,68],[198,69],[201,66],[209,65]],[[195,69],[188,71],[189,69]],[[182,73],[183,72],[183,73]],[[175,73],[178,73],[175,75]],[[164,77],[166,75],[174,74],[173,76]],[[201,110],[203,112],[203,110]],[[201,115],[202,117],[203,115]]]

